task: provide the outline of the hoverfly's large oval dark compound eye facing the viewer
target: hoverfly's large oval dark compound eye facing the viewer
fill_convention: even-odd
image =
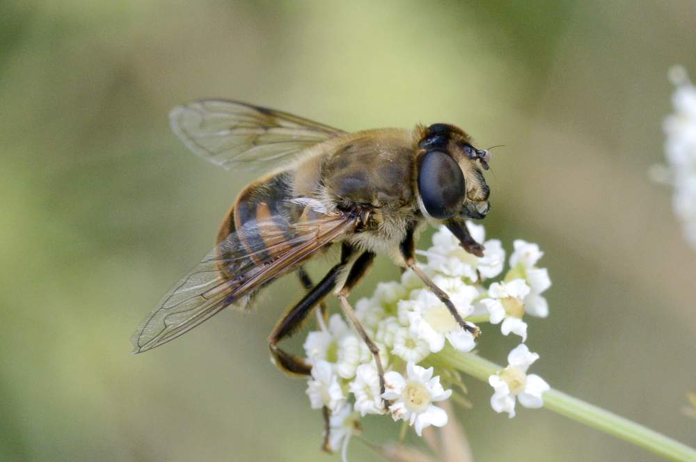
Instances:
[[[420,164],[418,191],[430,216],[438,220],[450,218],[457,214],[466,198],[464,174],[448,154],[427,152]]]

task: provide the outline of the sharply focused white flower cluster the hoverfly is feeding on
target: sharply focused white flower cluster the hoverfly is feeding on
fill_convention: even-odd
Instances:
[[[543,253],[536,244],[514,241],[509,269],[503,274],[505,250],[500,241],[486,241],[482,225],[467,226],[471,236],[484,243],[484,257],[467,253],[443,227],[434,234],[431,248],[418,251],[427,258],[422,269],[448,293],[462,318],[500,324],[503,335],[513,333],[525,342],[524,315],[548,315],[542,293],[551,280],[546,269],[537,267]],[[419,436],[429,425],[445,425],[448,415],[436,403],[452,395],[445,387],[458,383],[448,371],[438,369],[442,376],[435,375],[432,365],[438,364],[437,353],[446,344],[458,351],[472,351],[475,337],[457,324],[447,307],[410,270],[402,274],[400,282],[379,283],[372,297],[359,300],[355,310],[379,347],[386,371],[383,394],[372,353],[340,314],[333,314],[328,325],[317,317],[320,329],[310,332],[304,343],[313,366],[307,394],[312,408],[326,406],[331,412],[331,449],[342,445],[345,452],[351,429],[368,414],[406,420]],[[495,390],[491,406],[496,412],[513,417],[515,398],[526,407],[543,404],[541,394],[548,385],[539,376],[526,375],[537,358],[521,343],[509,354],[508,367],[491,376]]]

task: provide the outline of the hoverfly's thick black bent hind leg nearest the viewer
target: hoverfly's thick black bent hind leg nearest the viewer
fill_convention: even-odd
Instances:
[[[319,284],[310,289],[302,299],[287,310],[283,317],[278,321],[276,327],[271,331],[268,337],[269,349],[271,357],[278,369],[290,375],[309,375],[312,367],[299,356],[287,353],[278,347],[278,342],[285,337],[290,337],[306,319],[312,309],[321,302],[326,295],[336,286],[336,282],[340,273],[345,269],[349,262],[349,253],[341,255],[341,262],[333,266],[329,273],[319,281]]]

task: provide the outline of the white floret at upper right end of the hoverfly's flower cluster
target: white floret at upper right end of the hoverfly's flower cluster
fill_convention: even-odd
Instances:
[[[530,292],[524,299],[525,312],[532,316],[547,317],[548,303],[541,293],[551,287],[551,279],[546,268],[536,266],[544,252],[539,250],[537,244],[522,239],[515,239],[513,246],[507,278],[523,278],[529,285]]]

